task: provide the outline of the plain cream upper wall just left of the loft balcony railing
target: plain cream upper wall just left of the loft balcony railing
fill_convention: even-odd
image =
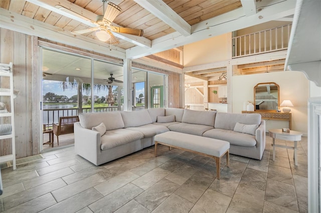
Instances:
[[[231,33],[184,45],[184,66],[193,66],[231,58]]]

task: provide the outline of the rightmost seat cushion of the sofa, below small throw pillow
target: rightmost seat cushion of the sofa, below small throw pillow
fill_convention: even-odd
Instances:
[[[256,145],[255,136],[251,134],[240,133],[233,130],[222,128],[213,128],[203,133],[204,137],[211,137],[220,140],[226,140],[232,145],[254,146]]]

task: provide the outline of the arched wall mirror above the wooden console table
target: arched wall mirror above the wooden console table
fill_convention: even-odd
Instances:
[[[280,108],[280,88],[275,82],[258,83],[254,86],[254,110],[276,111]]]

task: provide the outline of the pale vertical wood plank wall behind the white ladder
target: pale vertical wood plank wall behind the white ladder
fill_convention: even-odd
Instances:
[[[0,28],[0,37],[0,62],[13,62],[14,87],[20,90],[14,104],[16,157],[21,158],[34,154],[32,141],[32,36]],[[0,143],[1,155],[12,153],[12,147],[9,145],[11,139],[2,140]]]

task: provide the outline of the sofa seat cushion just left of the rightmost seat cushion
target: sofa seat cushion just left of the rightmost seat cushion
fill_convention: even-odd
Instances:
[[[200,124],[191,124],[191,123],[177,123],[170,125],[168,127],[171,131],[178,131],[182,133],[188,133],[188,134],[195,134],[195,135],[200,135],[212,128],[213,126],[208,126],[208,125],[200,125]]]

